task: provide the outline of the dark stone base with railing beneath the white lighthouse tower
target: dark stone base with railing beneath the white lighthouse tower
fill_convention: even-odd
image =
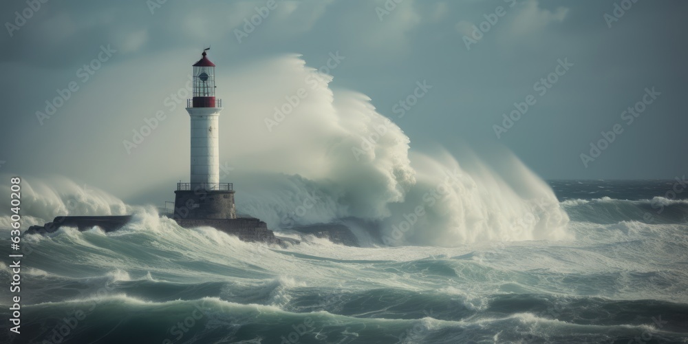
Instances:
[[[236,219],[233,190],[177,190],[175,219]]]

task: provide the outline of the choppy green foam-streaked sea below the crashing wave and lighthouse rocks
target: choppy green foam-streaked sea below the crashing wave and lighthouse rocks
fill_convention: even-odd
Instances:
[[[150,209],[113,233],[26,236],[21,334],[4,258],[0,342],[688,343],[682,181],[548,184],[566,239],[282,247]]]

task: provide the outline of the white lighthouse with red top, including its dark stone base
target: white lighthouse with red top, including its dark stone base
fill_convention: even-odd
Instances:
[[[175,217],[184,219],[236,218],[231,183],[219,180],[219,114],[222,100],[215,97],[215,64],[204,49],[193,64],[193,98],[186,100],[191,118],[190,181],[177,184]]]

